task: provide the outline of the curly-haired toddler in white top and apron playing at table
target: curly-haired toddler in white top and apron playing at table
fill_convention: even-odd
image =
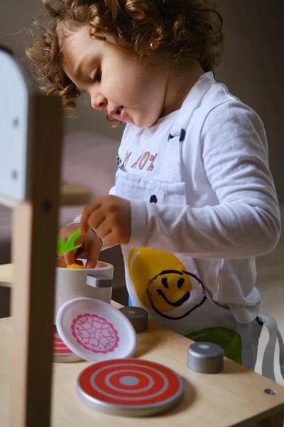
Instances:
[[[63,258],[72,264],[84,251],[94,268],[102,246],[121,244],[131,304],[253,369],[271,319],[261,315],[255,257],[278,243],[280,215],[263,123],[214,78],[217,6],[44,4],[50,22],[37,24],[28,48],[42,88],[66,108],[86,92],[109,121],[127,124],[115,185],[62,228],[62,240],[78,222],[84,234],[82,249]]]

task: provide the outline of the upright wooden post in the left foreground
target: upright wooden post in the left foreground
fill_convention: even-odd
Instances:
[[[50,427],[61,101],[35,97],[31,116],[28,199],[13,211],[11,427]]]

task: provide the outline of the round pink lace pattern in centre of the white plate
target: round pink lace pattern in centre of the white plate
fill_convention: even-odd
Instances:
[[[94,353],[106,354],[119,346],[119,333],[104,317],[85,313],[72,321],[71,328],[78,344]]]

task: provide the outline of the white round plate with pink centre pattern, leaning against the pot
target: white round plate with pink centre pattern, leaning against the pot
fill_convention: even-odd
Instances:
[[[62,341],[89,362],[132,357],[136,332],[127,317],[107,302],[77,298],[66,302],[56,317]]]

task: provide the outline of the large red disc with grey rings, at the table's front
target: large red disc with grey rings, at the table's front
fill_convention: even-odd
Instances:
[[[77,392],[88,406],[123,416],[149,416],[180,404],[182,378],[171,369],[141,359],[93,364],[77,379]]]

